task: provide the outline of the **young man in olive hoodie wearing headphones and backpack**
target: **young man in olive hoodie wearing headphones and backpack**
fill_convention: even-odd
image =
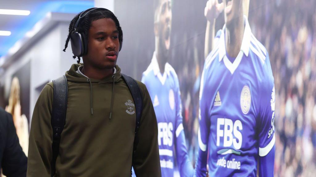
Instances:
[[[68,103],[55,176],[131,176],[132,165],[137,176],[161,176],[155,112],[147,88],[138,81],[143,111],[133,153],[135,103],[116,65],[123,40],[119,21],[107,9],[88,10],[70,22],[65,44],[66,49],[70,38],[76,42],[78,32],[88,48],[83,49],[83,64],[78,57],[78,64],[66,72]],[[46,84],[34,108],[30,177],[51,174],[53,94],[53,83]]]

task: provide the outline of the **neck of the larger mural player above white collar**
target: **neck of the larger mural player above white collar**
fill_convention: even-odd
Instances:
[[[242,39],[244,37],[244,20],[243,15],[234,19],[234,24],[226,26],[225,30],[225,45],[226,52],[230,57],[236,58],[240,52]]]

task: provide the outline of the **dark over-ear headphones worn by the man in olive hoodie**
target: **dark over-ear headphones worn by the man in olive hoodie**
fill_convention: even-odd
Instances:
[[[80,20],[87,15],[89,12],[96,10],[96,9],[105,9],[105,8],[90,8],[87,9],[85,11],[83,11],[80,15],[79,15],[79,19],[76,22],[76,25],[74,27],[74,31],[72,31],[71,35],[70,35],[70,43],[71,43],[71,49],[72,49],[72,53],[77,56],[77,57],[81,57],[82,55],[87,54],[88,52],[88,39],[86,37],[86,35],[81,34],[80,32],[76,31],[77,26],[80,22]],[[108,9],[105,9],[108,10]],[[119,51],[121,51],[122,49],[122,44],[123,41],[119,40]]]

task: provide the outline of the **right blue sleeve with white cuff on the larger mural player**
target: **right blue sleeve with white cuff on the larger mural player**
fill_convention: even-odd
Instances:
[[[265,60],[264,71],[266,75],[260,84],[259,101],[259,156],[266,156],[275,143],[274,119],[275,119],[275,88],[269,57]],[[273,168],[272,168],[273,169]]]

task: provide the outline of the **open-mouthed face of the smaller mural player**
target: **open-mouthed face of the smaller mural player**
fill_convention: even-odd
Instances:
[[[155,35],[159,37],[160,47],[163,52],[167,52],[170,49],[171,20],[170,0],[160,0],[157,20],[155,22]]]

